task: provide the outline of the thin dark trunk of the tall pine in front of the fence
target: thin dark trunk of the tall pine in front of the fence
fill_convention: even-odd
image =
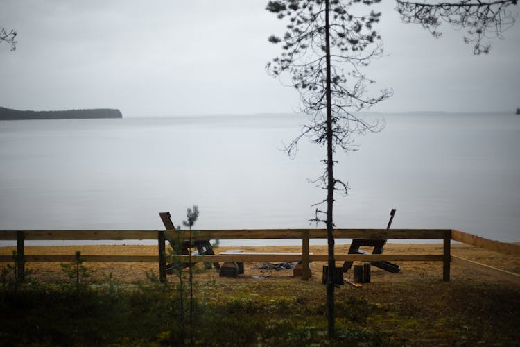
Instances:
[[[334,176],[333,176],[333,151],[332,151],[332,106],[331,106],[331,51],[330,51],[330,25],[329,25],[329,0],[325,1],[325,60],[327,64],[327,245],[329,253],[329,269],[327,274],[327,331],[329,338],[336,335],[334,321],[334,281],[333,273],[336,269],[334,260],[334,235],[332,208],[334,203]]]

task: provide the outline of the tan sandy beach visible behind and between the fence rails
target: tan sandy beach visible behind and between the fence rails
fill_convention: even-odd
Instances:
[[[336,253],[347,253],[348,245],[336,246]],[[0,255],[10,255],[14,247],[0,247]],[[243,251],[255,252],[300,252],[300,246],[276,246],[276,247],[219,247],[216,253],[229,249],[241,249]],[[156,255],[157,246],[139,245],[99,245],[99,246],[26,246],[26,255],[73,255],[81,251],[83,255]],[[327,253],[327,246],[311,246],[311,252],[315,254]],[[442,254],[442,244],[387,244],[385,253],[400,254]],[[465,257],[469,260],[491,265],[499,269],[520,273],[520,257],[502,255],[500,253],[485,251],[480,248],[453,244],[452,255]],[[417,281],[424,278],[442,280],[442,262],[396,262],[401,266],[401,273],[387,273],[372,266],[372,282],[404,282]],[[337,262],[337,266],[341,266]],[[213,270],[202,271],[196,276],[199,281],[216,280],[218,282],[242,281],[242,280],[282,280],[293,278],[292,270],[261,270],[260,264],[246,263],[245,273],[239,278],[221,278]],[[311,269],[313,278],[311,280],[320,282],[322,280],[322,262],[313,262]],[[0,262],[0,269],[6,263]],[[27,269],[32,271],[31,277],[45,282],[56,282],[66,279],[59,263],[53,262],[28,262]],[[90,281],[103,281],[110,273],[122,283],[146,282],[146,272],[158,273],[158,265],[154,263],[94,263],[86,262],[85,266],[91,273]],[[352,271],[347,273],[347,278],[352,278]],[[452,264],[452,280],[474,280],[478,282],[496,282],[490,276],[464,269]],[[175,280],[175,276],[168,276],[169,280]]]

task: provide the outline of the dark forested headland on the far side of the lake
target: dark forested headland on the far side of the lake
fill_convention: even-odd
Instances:
[[[89,110],[66,111],[20,111],[0,107],[0,120],[14,121],[21,119],[94,119],[123,118],[120,110],[112,108],[93,108]]]

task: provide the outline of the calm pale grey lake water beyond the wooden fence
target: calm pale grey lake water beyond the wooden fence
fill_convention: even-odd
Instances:
[[[381,133],[336,156],[336,177],[352,187],[336,198],[338,228],[384,228],[397,208],[395,228],[520,241],[520,116],[381,117]],[[0,121],[0,230],[159,230],[158,212],[177,225],[194,204],[200,229],[314,228],[311,205],[325,191],[307,178],[321,174],[324,149],[304,139],[293,160],[280,150],[304,120]]]

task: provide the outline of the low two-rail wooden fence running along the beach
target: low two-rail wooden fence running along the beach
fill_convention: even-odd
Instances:
[[[165,243],[168,230],[0,230],[0,240],[16,240],[17,255],[24,261],[18,262],[18,270],[23,278],[24,262],[72,262],[74,255],[25,255],[25,240],[157,240],[157,255],[84,255],[87,262],[157,262],[159,278],[166,280]],[[189,239],[189,232],[175,233],[175,237]],[[467,266],[492,276],[520,285],[516,273],[495,269],[492,266],[471,262],[451,255],[451,240],[470,244],[491,251],[520,256],[520,246],[484,239],[476,235],[449,229],[335,229],[335,239],[442,239],[442,255],[407,254],[336,254],[336,261],[403,261],[403,262],[442,262],[442,279],[450,279],[450,263]],[[268,230],[200,230],[193,239],[301,239],[301,255],[276,254],[232,254],[192,256],[191,262],[302,262],[302,279],[307,280],[309,262],[326,262],[327,254],[309,253],[309,239],[326,239],[325,229],[268,229]],[[181,255],[180,261],[189,262],[188,255]],[[0,255],[0,262],[12,262],[11,255]]]

